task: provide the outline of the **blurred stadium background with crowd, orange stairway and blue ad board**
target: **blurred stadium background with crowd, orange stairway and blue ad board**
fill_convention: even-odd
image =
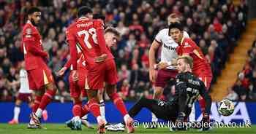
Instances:
[[[112,25],[121,33],[113,54],[118,67],[118,93],[127,101],[127,106],[141,96],[152,98],[148,50],[154,36],[167,26],[167,16],[176,13],[185,31],[211,63],[214,74],[211,97],[215,102],[223,98],[236,102],[237,111],[229,120],[214,111],[217,109],[214,103],[214,119],[220,122],[236,119],[245,122],[247,119],[256,123],[256,1],[253,0],[0,0],[0,122],[12,119],[18,94],[15,82],[23,60],[20,35],[27,9],[32,6],[42,9],[39,31],[43,47],[50,55],[48,66],[56,73],[69,58],[64,31],[75,19],[78,7],[83,5],[105,15],[106,25]],[[55,103],[48,106],[48,122],[64,122],[72,116],[68,76],[69,72],[56,79],[58,92]],[[170,81],[162,99],[173,95],[173,84]],[[107,95],[105,100],[109,100]],[[112,108],[107,104],[107,119],[119,122],[121,118],[115,117]],[[28,106],[23,104],[20,122],[29,121],[29,112]],[[199,112],[197,109],[197,117],[200,117]],[[149,121],[148,111],[142,113],[139,117]]]

